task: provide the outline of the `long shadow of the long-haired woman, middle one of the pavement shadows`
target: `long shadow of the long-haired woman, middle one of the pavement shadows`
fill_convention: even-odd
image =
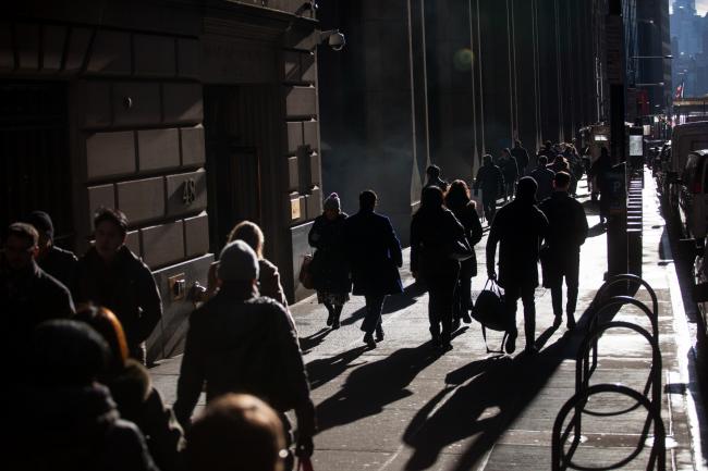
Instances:
[[[408,384],[438,358],[437,349],[423,344],[352,371],[342,388],[317,406],[319,431],[376,416],[389,404],[413,395]]]

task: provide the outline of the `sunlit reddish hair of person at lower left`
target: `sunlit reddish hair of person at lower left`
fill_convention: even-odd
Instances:
[[[108,371],[121,372],[127,360],[127,343],[123,326],[115,314],[107,308],[85,305],[78,308],[73,319],[90,325],[103,337],[109,348]]]

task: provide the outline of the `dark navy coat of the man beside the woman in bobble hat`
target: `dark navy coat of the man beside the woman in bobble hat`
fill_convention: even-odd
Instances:
[[[344,222],[346,252],[356,296],[403,293],[398,268],[403,265],[401,243],[391,221],[362,210]]]

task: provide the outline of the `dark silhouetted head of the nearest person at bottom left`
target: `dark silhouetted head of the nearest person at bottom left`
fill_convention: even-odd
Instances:
[[[88,386],[106,371],[108,348],[98,332],[84,322],[47,321],[34,332],[29,368],[38,386]]]

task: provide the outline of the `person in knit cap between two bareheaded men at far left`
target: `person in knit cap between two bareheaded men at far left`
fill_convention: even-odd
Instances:
[[[39,268],[70,288],[74,282],[78,259],[74,252],[54,245],[54,224],[49,214],[34,211],[25,222],[32,224],[39,234],[39,251],[36,257]]]

